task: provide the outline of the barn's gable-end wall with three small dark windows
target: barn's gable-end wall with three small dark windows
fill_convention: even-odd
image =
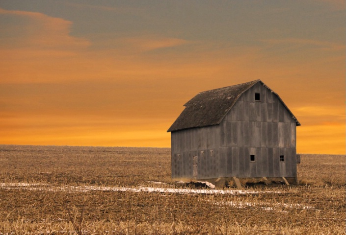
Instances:
[[[255,93],[261,94],[260,101],[255,101]],[[255,84],[220,123],[224,176],[296,177],[295,130],[295,120],[277,96]],[[250,155],[255,155],[254,162]],[[279,161],[280,155],[284,162]]]

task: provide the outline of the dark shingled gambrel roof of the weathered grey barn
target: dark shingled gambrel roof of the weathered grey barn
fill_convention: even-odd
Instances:
[[[240,95],[258,82],[262,83],[268,90],[270,90],[270,92],[278,97],[292,115],[296,125],[300,126],[298,120],[294,117],[279,95],[268,88],[261,80],[255,80],[197,94],[184,104],[185,109],[167,132],[220,124],[228,111],[230,111],[233,105],[237,102]]]

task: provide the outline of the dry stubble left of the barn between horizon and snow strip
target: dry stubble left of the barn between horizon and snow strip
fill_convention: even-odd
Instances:
[[[169,148],[0,145],[1,182],[126,185],[170,181]]]

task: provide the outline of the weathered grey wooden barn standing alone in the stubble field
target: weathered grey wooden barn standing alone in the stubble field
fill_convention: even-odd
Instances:
[[[173,179],[297,182],[297,118],[261,80],[197,94],[171,132]]]

